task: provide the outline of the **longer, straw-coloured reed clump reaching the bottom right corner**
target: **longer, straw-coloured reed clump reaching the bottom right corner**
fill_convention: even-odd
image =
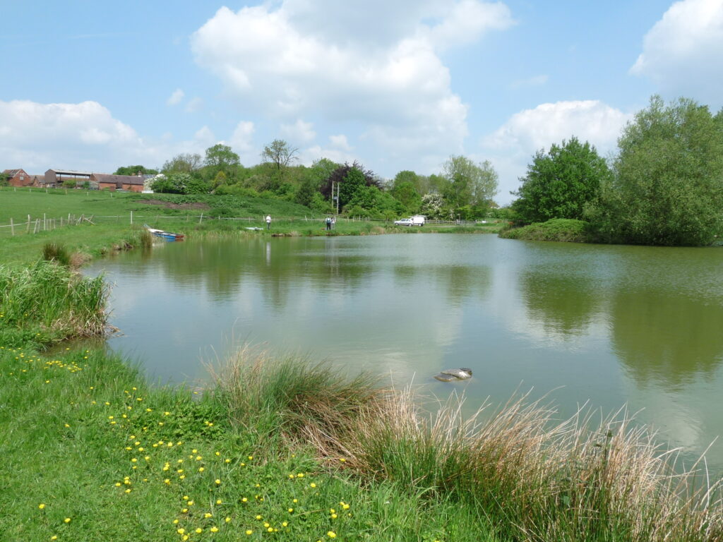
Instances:
[[[472,504],[512,540],[723,540],[720,482],[676,474],[672,452],[622,410],[559,422],[522,397],[467,419],[452,401],[426,419],[409,391],[377,405],[335,443],[351,464]]]

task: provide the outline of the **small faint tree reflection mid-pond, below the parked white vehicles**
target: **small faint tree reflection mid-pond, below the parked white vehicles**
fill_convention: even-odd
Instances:
[[[429,277],[440,284],[447,293],[448,303],[458,306],[466,298],[479,296],[484,298],[492,285],[492,270],[487,266],[471,265],[434,265],[420,267],[414,265],[395,265],[395,280],[400,285],[416,285],[416,275]]]

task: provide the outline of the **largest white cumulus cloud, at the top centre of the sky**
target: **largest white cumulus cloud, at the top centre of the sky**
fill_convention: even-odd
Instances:
[[[439,163],[467,134],[440,51],[512,24],[505,4],[479,0],[284,0],[223,7],[191,43],[243,103],[287,123],[361,126],[377,155]]]

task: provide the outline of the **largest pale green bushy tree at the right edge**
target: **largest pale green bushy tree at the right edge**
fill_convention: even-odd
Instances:
[[[723,115],[653,96],[617,141],[589,218],[604,241],[709,245],[723,234]]]

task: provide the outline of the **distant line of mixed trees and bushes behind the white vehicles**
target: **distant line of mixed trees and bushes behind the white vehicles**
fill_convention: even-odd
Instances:
[[[320,158],[296,164],[298,150],[275,139],[261,153],[261,162],[244,166],[239,155],[221,143],[205,156],[182,153],[163,164],[152,185],[170,194],[237,194],[273,197],[306,205],[317,212],[339,210],[346,215],[394,219],[421,213],[427,218],[474,220],[497,205],[497,172],[489,161],[475,163],[450,156],[440,174],[400,171],[393,179],[377,176],[359,162],[335,163]],[[117,175],[158,173],[142,165],[116,170]],[[338,198],[338,199],[337,199]]]

